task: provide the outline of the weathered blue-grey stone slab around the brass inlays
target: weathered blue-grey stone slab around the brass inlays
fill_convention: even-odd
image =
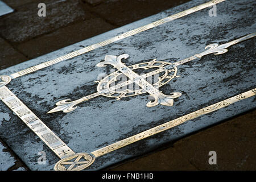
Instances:
[[[207,1],[185,3],[2,70],[0,75],[10,75],[80,49],[81,46],[101,42],[204,2]],[[152,59],[173,63],[203,52],[208,44],[226,43],[255,32],[254,6],[253,0],[221,2],[217,5],[216,17],[208,15],[210,8],[200,10],[38,72],[16,78],[7,86],[73,151],[92,152],[171,119],[253,89],[256,80],[254,38],[228,48],[229,52],[223,55],[207,55],[201,60],[180,65],[177,72],[180,77],[160,88],[164,94],[182,93],[181,97],[175,99],[172,107],[163,105],[146,107],[149,101],[147,94],[120,101],[100,96],[80,104],[72,113],[46,114],[55,107],[57,101],[76,100],[96,92],[97,84],[94,81],[97,80],[97,76],[101,73],[110,73],[111,67],[96,67],[105,55],[128,53],[130,57],[124,61],[126,65]],[[255,106],[255,97],[247,98],[101,156],[87,169],[102,169],[110,164],[144,154],[161,144],[172,142],[223,119],[254,109]],[[0,108],[0,137],[30,169],[53,170],[59,158],[2,102]],[[47,165],[38,164],[39,151],[46,152]]]

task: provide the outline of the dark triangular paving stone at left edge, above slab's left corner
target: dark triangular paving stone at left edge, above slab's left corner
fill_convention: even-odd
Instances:
[[[0,69],[5,69],[13,64],[19,64],[27,60],[27,57],[16,51],[9,43],[0,38]]]

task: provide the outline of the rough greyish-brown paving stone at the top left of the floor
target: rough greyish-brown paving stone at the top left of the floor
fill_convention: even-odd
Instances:
[[[10,42],[22,42],[69,23],[92,18],[80,2],[47,0],[46,17],[38,16],[38,2],[28,3],[15,13],[0,17],[0,34]]]

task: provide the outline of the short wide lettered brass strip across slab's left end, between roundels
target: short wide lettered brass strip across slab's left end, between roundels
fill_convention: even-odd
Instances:
[[[0,88],[0,99],[14,111],[14,113],[18,115],[18,117],[22,119],[22,121],[30,127],[60,159],[75,154],[67,144],[57,137],[57,135],[36,117],[36,115],[6,86]]]

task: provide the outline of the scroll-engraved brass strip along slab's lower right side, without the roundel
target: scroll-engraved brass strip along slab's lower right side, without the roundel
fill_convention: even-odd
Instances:
[[[244,100],[245,98],[255,96],[255,94],[256,94],[256,88],[252,89],[252,90],[249,90],[247,92],[238,94],[237,96],[230,97],[230,98],[228,98],[224,101],[217,102],[216,104],[204,107],[203,109],[199,109],[197,111],[194,111],[193,113],[189,113],[187,115],[184,115],[183,117],[179,117],[179,118],[174,119],[172,121],[163,123],[162,125],[153,127],[152,129],[149,129],[149,130],[143,131],[142,133],[133,135],[132,137],[120,140],[118,142],[110,144],[109,146],[106,146],[106,147],[100,148],[96,151],[93,151],[93,152],[91,152],[91,154],[93,154],[96,158],[98,156],[108,154],[109,152],[117,150],[118,148],[125,147],[125,146],[127,146],[131,143],[134,143],[134,142],[137,142],[137,141],[142,140],[144,138],[147,138],[147,137],[150,137],[152,135],[158,134],[162,131],[171,129],[172,127],[180,125],[180,124],[182,124],[186,121],[190,121],[191,119],[195,119],[197,117],[200,117],[201,115],[212,113],[213,111],[216,111],[216,110],[221,109],[223,107],[234,104],[235,102]]]

